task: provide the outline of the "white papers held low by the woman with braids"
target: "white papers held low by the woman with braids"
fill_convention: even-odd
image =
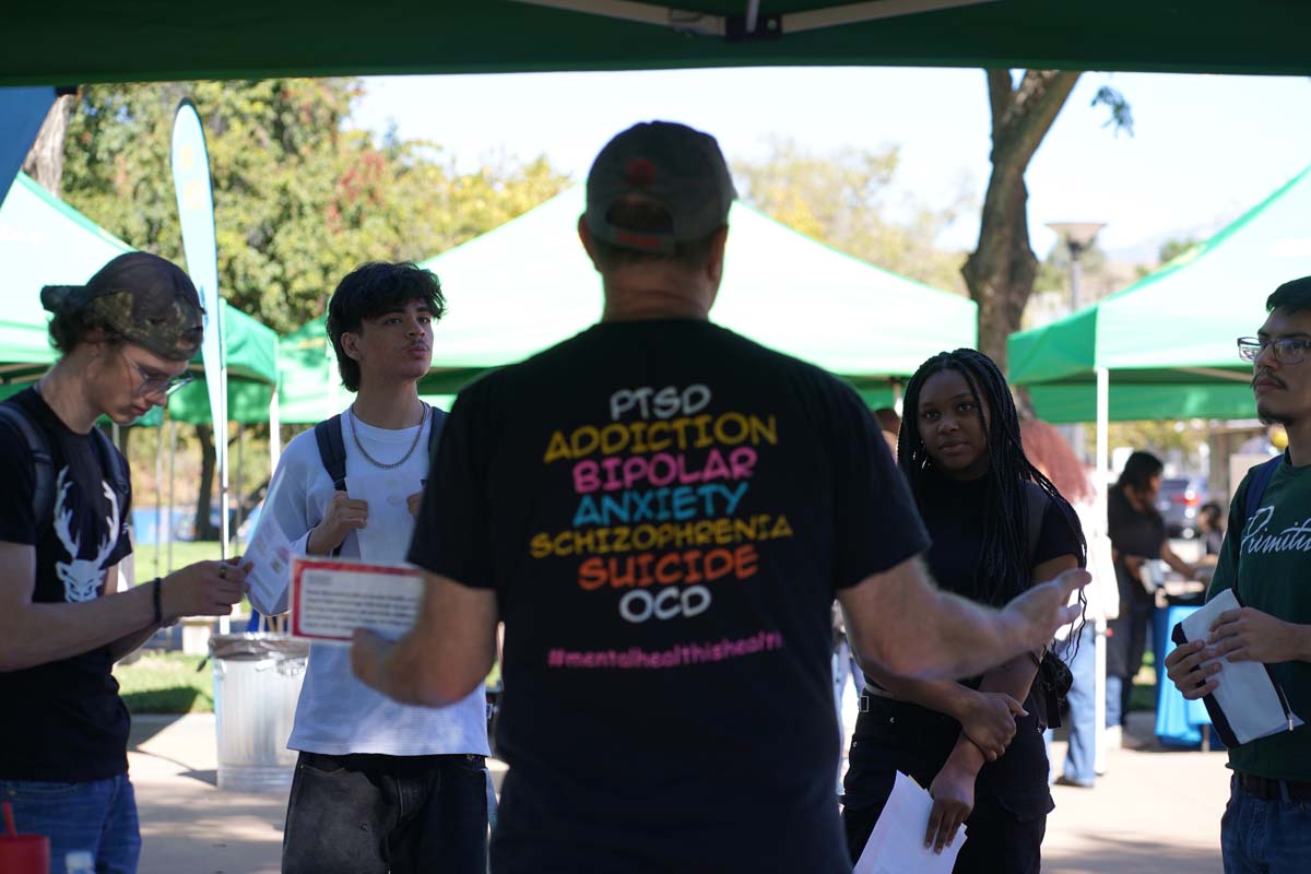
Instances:
[[[932,810],[933,798],[914,780],[897,772],[893,794],[878,815],[852,874],[952,874],[956,857],[965,845],[965,827],[939,856],[931,846],[924,846]]]

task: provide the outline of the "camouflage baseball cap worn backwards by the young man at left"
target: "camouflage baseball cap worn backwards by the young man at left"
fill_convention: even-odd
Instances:
[[[190,360],[205,332],[190,276],[147,252],[118,256],[85,286],[46,286],[41,305],[52,313],[87,308],[128,342],[174,362]]]

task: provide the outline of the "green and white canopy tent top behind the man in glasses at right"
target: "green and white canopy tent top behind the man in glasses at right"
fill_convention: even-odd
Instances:
[[[1110,372],[1110,418],[1252,415],[1251,364],[1265,299],[1311,274],[1311,168],[1124,291],[1044,328],[1012,334],[1009,377],[1046,419],[1088,421],[1095,371]]]

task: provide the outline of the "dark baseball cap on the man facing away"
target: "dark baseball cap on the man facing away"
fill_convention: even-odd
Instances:
[[[669,212],[667,231],[611,224],[620,199],[638,195]],[[720,144],[709,134],[674,122],[644,122],[606,144],[587,173],[587,212],[593,236],[624,249],[671,253],[679,242],[701,240],[728,223],[737,198]]]

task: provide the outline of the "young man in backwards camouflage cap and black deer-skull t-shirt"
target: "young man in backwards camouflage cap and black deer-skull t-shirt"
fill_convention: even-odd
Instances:
[[[203,561],[117,591],[131,481],[96,421],[131,425],[185,384],[202,332],[187,275],[134,252],[41,303],[60,358],[0,415],[0,799],[20,831],[50,837],[59,870],[84,850],[97,871],[128,873],[142,841],[110,671],[164,624],[229,615],[245,571]]]

